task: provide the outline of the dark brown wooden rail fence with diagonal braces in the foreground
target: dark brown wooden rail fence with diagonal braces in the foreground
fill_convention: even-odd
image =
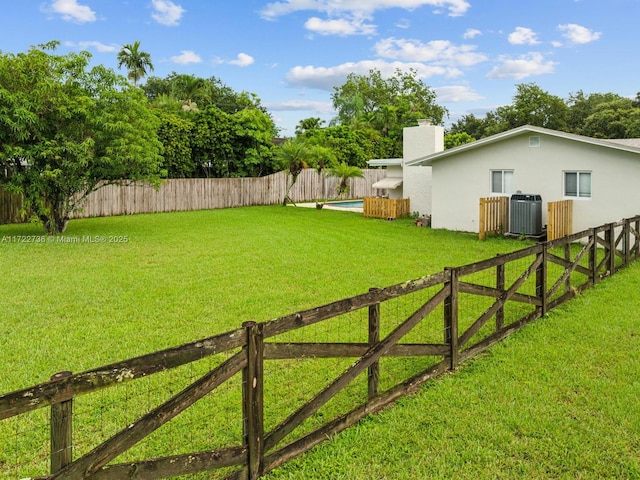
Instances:
[[[26,447],[27,451],[11,451],[0,458],[0,466],[9,469],[12,478],[155,479],[217,471],[225,478],[256,479],[429,379],[456,369],[460,362],[637,260],[639,232],[640,216],[398,285],[372,288],[265,323],[246,322],[231,332],[83,373],[62,372],[49,382],[0,396],[0,427],[12,418],[19,422],[28,412],[50,409],[49,440],[42,439],[50,445],[49,465],[27,465],[28,471],[12,467],[10,462],[17,462],[19,455],[31,458],[43,449],[32,440],[28,444],[31,451]],[[296,334],[309,329],[314,341],[300,341],[304,337]],[[336,338],[318,341],[328,338],[328,333]],[[106,440],[97,442],[90,433],[76,446],[74,438],[82,430],[75,424],[74,411],[83,398],[94,396],[99,405],[86,422],[90,428],[96,417],[106,415],[100,409],[106,400],[97,392],[117,392],[125,384],[135,385],[213,357],[216,362],[199,378],[139,418],[123,422]],[[316,372],[323,362],[332,365],[337,359],[347,363],[331,369],[331,376],[322,367],[321,380],[310,383],[305,365],[318,362],[308,370]],[[394,363],[400,361],[405,363]],[[272,370],[269,366],[273,364],[283,367]],[[293,368],[286,368],[288,365]],[[407,369],[401,371],[398,365]],[[272,381],[274,374],[278,377]],[[236,443],[215,449],[193,447],[166,456],[157,456],[154,450],[153,458],[114,463],[198,402],[218,399],[223,385],[238,377],[231,384],[239,391],[242,409],[238,417],[242,434]],[[284,388],[299,390],[287,396]],[[348,395],[343,397],[344,392]],[[306,396],[298,399],[298,394]],[[270,409],[279,399],[286,409],[280,415]],[[338,399],[345,402],[344,408],[338,402],[336,411],[325,410]],[[207,435],[220,430],[215,421],[224,414],[215,412],[229,405],[224,398],[215,408],[207,405],[206,411],[213,408],[202,425]],[[127,408],[116,406],[117,410]],[[21,429],[11,429],[16,430]],[[12,449],[11,440],[0,437],[5,452]],[[177,448],[172,434],[165,441]]]

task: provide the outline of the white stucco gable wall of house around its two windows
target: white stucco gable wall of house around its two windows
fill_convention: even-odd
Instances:
[[[529,136],[540,137],[529,147]],[[640,214],[640,156],[548,135],[525,132],[433,162],[432,226],[478,232],[479,199],[491,196],[491,170],[513,170],[514,192],[564,200],[564,172],[590,171],[591,198],[573,198],[573,231]]]

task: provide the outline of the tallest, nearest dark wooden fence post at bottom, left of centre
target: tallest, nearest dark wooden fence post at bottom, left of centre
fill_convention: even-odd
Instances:
[[[247,332],[247,366],[242,371],[244,442],[247,445],[248,479],[262,475],[264,466],[264,337],[263,324],[244,322]]]

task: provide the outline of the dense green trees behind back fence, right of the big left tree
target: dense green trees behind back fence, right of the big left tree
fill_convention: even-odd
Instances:
[[[175,72],[141,87],[156,115],[170,177],[247,177],[274,172],[278,130],[252,93],[216,77]]]

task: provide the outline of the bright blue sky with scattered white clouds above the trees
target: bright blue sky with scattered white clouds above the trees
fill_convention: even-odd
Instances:
[[[256,93],[283,136],[333,118],[350,72],[414,68],[449,110],[484,115],[519,83],[567,98],[640,91],[640,0],[0,0],[0,50],[59,40],[117,69],[141,42],[155,66]],[[122,71],[126,74],[125,71]]]

